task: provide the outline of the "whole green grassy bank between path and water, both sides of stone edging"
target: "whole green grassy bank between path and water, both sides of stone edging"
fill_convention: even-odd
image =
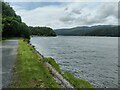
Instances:
[[[19,39],[17,52],[11,88],[66,88],[57,82],[53,71],[46,66],[45,63],[49,63],[73,88],[95,89],[88,81],[76,78],[70,72],[62,72],[53,58],[42,56],[27,39]]]

